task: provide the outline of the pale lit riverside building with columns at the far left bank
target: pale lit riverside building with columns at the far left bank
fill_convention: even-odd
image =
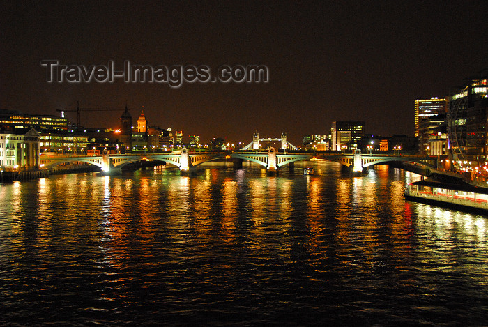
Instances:
[[[1,170],[36,170],[39,168],[39,133],[31,128],[0,130]]]

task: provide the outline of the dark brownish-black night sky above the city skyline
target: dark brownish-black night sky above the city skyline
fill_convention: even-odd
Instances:
[[[413,135],[415,99],[448,96],[488,68],[488,1],[9,1],[0,10],[0,108],[128,107],[188,135],[292,143],[335,120],[368,133]],[[149,65],[262,64],[268,83],[62,84],[44,59]],[[115,128],[122,112],[86,112]],[[75,121],[75,114],[68,118]]]

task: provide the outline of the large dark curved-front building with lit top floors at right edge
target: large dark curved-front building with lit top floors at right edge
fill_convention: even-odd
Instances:
[[[468,79],[450,96],[447,119],[450,152],[455,161],[477,165],[487,160],[488,70]]]

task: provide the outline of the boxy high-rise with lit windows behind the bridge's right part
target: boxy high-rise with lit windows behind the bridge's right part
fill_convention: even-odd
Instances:
[[[333,121],[330,128],[332,149],[353,149],[365,134],[364,121]]]

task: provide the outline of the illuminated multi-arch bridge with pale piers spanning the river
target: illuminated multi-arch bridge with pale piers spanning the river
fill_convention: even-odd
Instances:
[[[323,159],[339,162],[349,167],[353,172],[362,172],[363,169],[372,165],[381,165],[388,162],[409,162],[422,167],[436,168],[437,156],[426,155],[363,155],[356,150],[352,154],[333,152],[279,152],[275,148],[268,151],[234,151],[232,153],[222,152],[192,152],[183,148],[181,151],[172,153],[142,153],[142,154],[109,154],[102,155],[62,155],[62,156],[40,156],[40,163],[44,169],[67,162],[86,162],[102,169],[106,174],[121,172],[123,166],[140,162],[142,160],[159,160],[178,167],[181,172],[190,172],[197,165],[211,160],[232,160],[234,167],[242,167],[242,162],[248,160],[266,167],[270,174],[277,172],[280,167],[289,165],[293,167],[294,162],[300,160]]]

